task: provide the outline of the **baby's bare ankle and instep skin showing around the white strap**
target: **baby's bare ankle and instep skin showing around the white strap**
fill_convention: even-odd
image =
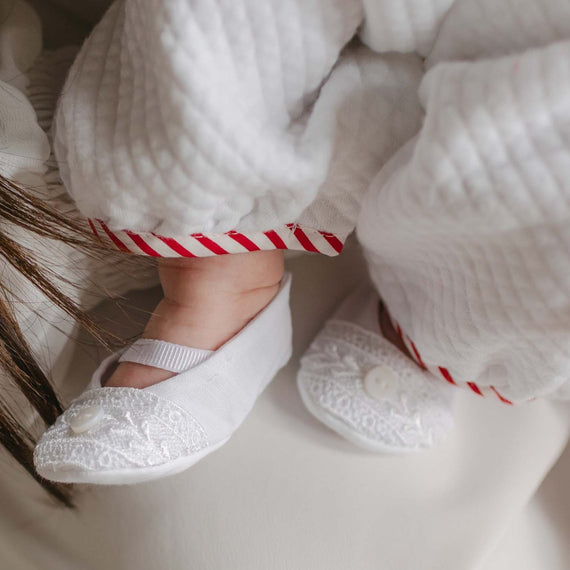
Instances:
[[[273,299],[283,270],[279,250],[161,260],[164,297],[143,338],[216,350]],[[122,362],[106,386],[145,388],[171,376],[165,370]]]

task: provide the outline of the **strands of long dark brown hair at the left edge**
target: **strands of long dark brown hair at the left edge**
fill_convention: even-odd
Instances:
[[[64,294],[53,270],[10,235],[18,227],[35,236],[60,240],[88,255],[109,254],[109,247],[95,238],[86,224],[61,214],[29,190],[0,176],[0,258],[36,286],[98,341],[110,346],[117,339]],[[61,280],[60,280],[61,282]],[[0,369],[23,394],[42,422],[51,425],[62,412],[62,405],[48,373],[37,362],[18,324],[10,302],[10,291],[0,281]],[[18,420],[0,388],[0,444],[60,503],[72,506],[70,487],[41,479],[33,465],[35,436]]]

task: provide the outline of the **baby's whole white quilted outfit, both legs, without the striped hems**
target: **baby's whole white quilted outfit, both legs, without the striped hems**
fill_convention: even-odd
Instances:
[[[562,0],[123,0],[74,65],[59,158],[83,213],[170,236],[346,234],[374,180],[359,235],[425,363],[560,395],[569,38]]]

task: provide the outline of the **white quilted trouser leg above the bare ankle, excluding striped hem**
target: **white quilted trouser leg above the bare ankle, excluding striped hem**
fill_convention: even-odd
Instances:
[[[344,238],[420,124],[417,56],[340,56],[362,13],[357,0],[116,3],[57,119],[81,211],[166,236],[298,221]]]

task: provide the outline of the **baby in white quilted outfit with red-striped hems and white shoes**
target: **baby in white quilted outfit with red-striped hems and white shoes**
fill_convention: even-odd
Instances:
[[[290,356],[281,250],[336,255],[355,227],[373,285],[298,376],[323,423],[401,453],[449,432],[455,386],[567,396],[570,13],[547,2],[538,25],[525,3],[114,4],[55,149],[93,231],[160,258],[164,298],[43,436],[38,472],[134,483],[223,445]]]

